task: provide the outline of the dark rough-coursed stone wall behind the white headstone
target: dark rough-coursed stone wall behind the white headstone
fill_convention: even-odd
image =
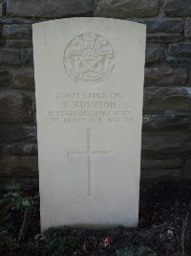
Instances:
[[[147,24],[141,181],[190,180],[190,0],[0,0],[1,184],[38,186],[32,23],[71,16]]]

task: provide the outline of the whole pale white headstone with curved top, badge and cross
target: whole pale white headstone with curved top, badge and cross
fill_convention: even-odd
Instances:
[[[138,223],[145,25],[33,25],[42,229]]]

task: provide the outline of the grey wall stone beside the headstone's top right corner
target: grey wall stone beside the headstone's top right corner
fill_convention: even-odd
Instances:
[[[182,19],[161,19],[145,22],[147,33],[180,33],[183,32],[184,22]]]

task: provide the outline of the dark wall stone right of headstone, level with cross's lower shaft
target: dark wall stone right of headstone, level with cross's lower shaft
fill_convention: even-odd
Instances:
[[[181,180],[181,170],[142,170],[142,182],[177,182]]]

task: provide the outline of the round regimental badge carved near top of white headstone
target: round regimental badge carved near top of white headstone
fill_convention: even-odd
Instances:
[[[114,69],[114,50],[104,37],[93,33],[77,35],[64,52],[64,66],[73,81],[107,80]]]

